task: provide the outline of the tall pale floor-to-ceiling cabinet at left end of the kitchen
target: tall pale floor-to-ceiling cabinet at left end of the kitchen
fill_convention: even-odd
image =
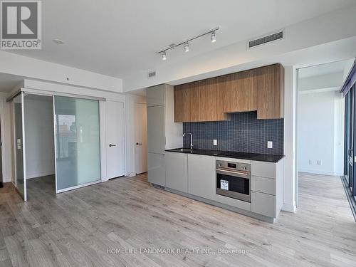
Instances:
[[[148,182],[166,186],[164,150],[182,147],[182,135],[182,122],[174,122],[173,86],[147,88]]]

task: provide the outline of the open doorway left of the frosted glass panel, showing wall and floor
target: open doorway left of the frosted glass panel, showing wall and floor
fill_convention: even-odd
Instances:
[[[27,197],[56,194],[53,97],[25,95],[24,103]]]

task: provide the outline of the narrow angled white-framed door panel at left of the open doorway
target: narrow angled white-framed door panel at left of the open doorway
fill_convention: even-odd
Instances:
[[[15,185],[17,192],[24,201],[27,201],[26,192],[26,153],[25,153],[25,127],[24,127],[24,93],[14,98],[14,135],[15,135]]]

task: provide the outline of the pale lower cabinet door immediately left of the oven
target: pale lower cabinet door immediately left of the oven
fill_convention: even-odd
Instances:
[[[188,155],[188,193],[216,200],[215,157]]]

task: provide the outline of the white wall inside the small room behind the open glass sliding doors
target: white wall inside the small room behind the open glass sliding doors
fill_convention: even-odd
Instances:
[[[25,137],[27,179],[55,174],[53,98],[26,96]]]

